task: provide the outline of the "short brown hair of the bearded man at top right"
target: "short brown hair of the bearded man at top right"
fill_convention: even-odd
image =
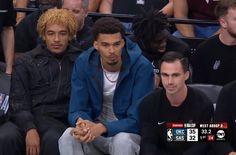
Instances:
[[[230,8],[236,7],[236,0],[220,0],[215,7],[215,15],[220,18],[228,13]]]

